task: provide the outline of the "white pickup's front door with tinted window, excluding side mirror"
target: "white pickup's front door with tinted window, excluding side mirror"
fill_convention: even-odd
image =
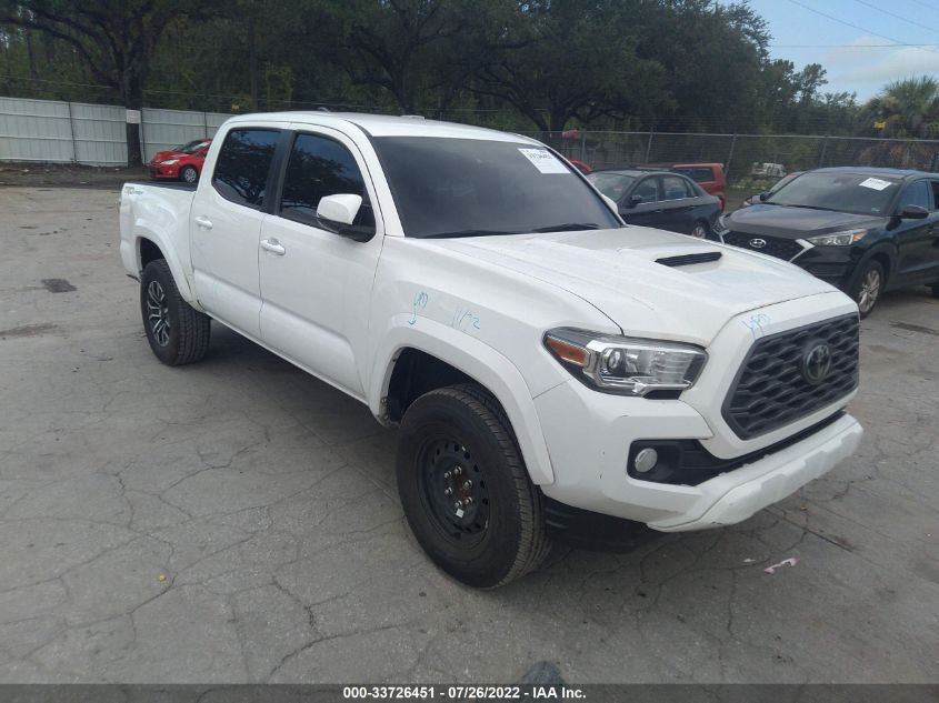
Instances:
[[[302,128],[309,129],[309,128]],[[367,348],[371,285],[381,252],[381,217],[364,161],[347,137],[327,128],[297,132],[274,213],[261,225],[261,339],[311,373],[363,398],[356,351]],[[362,197],[353,241],[319,220],[321,198]],[[377,227],[376,227],[377,225]]]

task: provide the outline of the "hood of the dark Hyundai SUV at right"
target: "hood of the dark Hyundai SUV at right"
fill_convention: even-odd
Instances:
[[[726,215],[723,224],[735,232],[802,239],[839,230],[882,227],[886,221],[869,214],[759,203]]]

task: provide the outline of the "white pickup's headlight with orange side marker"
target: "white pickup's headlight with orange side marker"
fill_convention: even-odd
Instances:
[[[576,378],[605,393],[646,395],[691,388],[708,355],[679,342],[598,334],[572,328],[545,333],[545,347]]]

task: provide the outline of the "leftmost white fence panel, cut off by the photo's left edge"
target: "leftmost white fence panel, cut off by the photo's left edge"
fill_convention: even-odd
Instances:
[[[0,161],[73,160],[67,102],[0,98]]]

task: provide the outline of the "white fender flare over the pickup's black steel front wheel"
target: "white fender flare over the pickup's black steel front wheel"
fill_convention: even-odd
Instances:
[[[409,324],[408,314],[397,314],[381,335],[382,345],[376,352],[370,375],[368,403],[372,413],[384,413],[382,399],[388,394],[391,373],[400,352],[417,349],[459,369],[486,386],[501,403],[512,423],[522,459],[532,483],[555,482],[551,458],[541,431],[541,422],[528,384],[519,370],[501,353],[480,340],[453,328],[418,318]]]

